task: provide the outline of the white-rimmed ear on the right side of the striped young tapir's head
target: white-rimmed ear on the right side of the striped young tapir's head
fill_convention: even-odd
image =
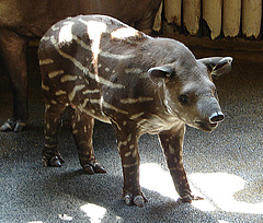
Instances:
[[[231,70],[232,58],[231,57],[209,57],[197,60],[203,62],[211,75],[222,75]]]

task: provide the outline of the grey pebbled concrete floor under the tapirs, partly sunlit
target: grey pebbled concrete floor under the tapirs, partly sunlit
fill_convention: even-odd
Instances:
[[[233,52],[199,51],[207,55]],[[44,168],[39,73],[28,54],[30,121],[21,133],[0,132],[0,222],[263,222],[263,63],[235,60],[230,74],[216,80],[226,119],[213,133],[187,128],[184,165],[192,190],[205,198],[179,204],[156,136],[140,139],[145,208],[121,201],[122,167],[112,127],[95,124],[96,159],[104,175],[85,175],[79,165],[69,114],[59,136],[66,160]],[[235,55],[233,55],[235,57]],[[11,116],[7,75],[0,72],[0,124]]]

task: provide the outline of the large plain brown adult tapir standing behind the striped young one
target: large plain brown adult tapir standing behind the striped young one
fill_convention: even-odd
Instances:
[[[106,14],[151,32],[162,0],[1,0],[0,62],[10,77],[13,114],[0,131],[21,131],[28,118],[27,42],[41,38],[56,22],[79,14]]]

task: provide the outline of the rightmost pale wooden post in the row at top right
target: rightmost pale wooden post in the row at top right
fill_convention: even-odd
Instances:
[[[242,32],[247,37],[259,36],[261,31],[262,0],[242,1]]]

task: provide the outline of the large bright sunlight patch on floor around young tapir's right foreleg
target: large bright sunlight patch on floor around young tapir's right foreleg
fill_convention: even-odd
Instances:
[[[202,211],[226,211],[238,213],[263,214],[263,202],[249,203],[235,199],[235,193],[242,190],[245,180],[227,173],[195,173],[188,174],[188,181],[193,195],[204,197],[205,200],[193,201],[193,207]],[[140,185],[164,197],[178,200],[170,173],[159,164],[145,163],[140,165]],[[202,193],[202,195],[199,195]]]

